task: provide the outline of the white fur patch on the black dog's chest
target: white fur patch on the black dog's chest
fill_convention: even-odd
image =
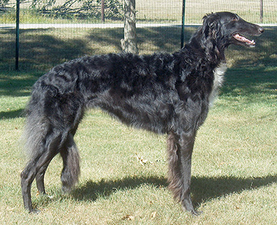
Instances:
[[[208,103],[209,107],[211,108],[213,106],[213,102],[215,101],[215,98],[217,97],[218,89],[222,86],[223,80],[224,80],[224,73],[227,70],[226,63],[220,64],[220,66],[217,66],[215,70],[213,71],[213,89],[210,93],[210,96],[208,97]]]

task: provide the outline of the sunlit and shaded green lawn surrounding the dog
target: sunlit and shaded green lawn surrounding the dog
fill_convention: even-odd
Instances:
[[[186,30],[187,36],[193,29]],[[0,30],[1,224],[275,224],[275,28],[256,38],[256,48],[236,46],[226,52],[226,81],[199,129],[193,154],[193,204],[202,215],[192,217],[172,200],[166,136],[125,127],[98,109],[87,111],[75,136],[82,159],[78,186],[62,194],[62,160],[55,157],[46,172],[50,197],[37,195],[34,183],[33,204],[42,212],[26,213],[19,184],[25,165],[20,136],[30,87],[53,64],[120,51],[122,31],[25,30],[21,71],[15,72],[12,31]],[[139,29],[138,36],[141,53],[179,48],[178,28]],[[48,45],[39,45],[42,40]]]

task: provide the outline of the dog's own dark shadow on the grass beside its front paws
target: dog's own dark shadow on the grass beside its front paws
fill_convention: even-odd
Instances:
[[[268,186],[276,181],[277,175],[258,178],[192,177],[193,204],[198,206],[208,199],[216,199],[234,192],[253,190]],[[96,201],[99,197],[109,197],[117,190],[135,189],[145,184],[157,188],[168,186],[167,179],[164,177],[125,177],[116,181],[87,181],[84,185],[73,190],[71,195],[80,201]]]

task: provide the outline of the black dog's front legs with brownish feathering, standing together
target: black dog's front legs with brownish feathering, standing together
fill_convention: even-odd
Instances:
[[[170,181],[170,190],[172,190],[174,197],[181,201],[183,208],[193,213],[193,215],[199,215],[199,212],[193,208],[193,202],[190,197],[191,156],[194,142],[195,133],[183,134],[181,137],[169,134],[168,179]]]

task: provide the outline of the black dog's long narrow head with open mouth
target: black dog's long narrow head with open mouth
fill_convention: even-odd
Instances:
[[[203,18],[202,32],[208,38],[220,39],[224,46],[237,44],[254,47],[256,42],[249,36],[259,36],[264,29],[256,24],[251,24],[231,12],[215,12]]]

